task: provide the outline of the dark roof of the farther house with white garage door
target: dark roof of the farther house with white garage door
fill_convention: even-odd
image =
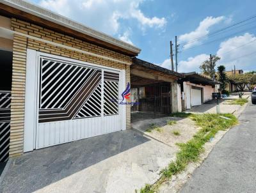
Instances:
[[[212,86],[214,86],[215,84],[220,84],[220,82],[214,81],[210,77],[201,75],[196,72],[189,72],[189,73],[183,73],[183,74],[185,77],[183,79],[180,79],[180,81],[182,82],[189,81],[195,84],[206,84],[206,85],[212,85]]]

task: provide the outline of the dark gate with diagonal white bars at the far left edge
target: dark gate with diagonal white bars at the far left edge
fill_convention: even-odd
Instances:
[[[9,157],[11,91],[0,91],[0,162]]]

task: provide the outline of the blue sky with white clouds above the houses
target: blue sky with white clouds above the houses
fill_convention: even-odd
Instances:
[[[256,1],[30,1],[136,45],[138,58],[165,68],[170,68],[170,40],[177,35],[179,72],[200,72],[209,54],[220,56],[218,65],[227,70],[234,65],[256,70],[256,17],[215,33],[256,15]]]

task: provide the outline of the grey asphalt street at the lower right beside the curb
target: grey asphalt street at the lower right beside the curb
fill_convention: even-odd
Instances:
[[[181,193],[256,192],[256,105],[249,102]]]

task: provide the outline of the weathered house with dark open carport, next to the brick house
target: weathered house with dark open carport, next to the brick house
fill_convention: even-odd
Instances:
[[[155,118],[181,111],[180,85],[182,73],[168,70],[138,58],[131,65],[131,118]]]

